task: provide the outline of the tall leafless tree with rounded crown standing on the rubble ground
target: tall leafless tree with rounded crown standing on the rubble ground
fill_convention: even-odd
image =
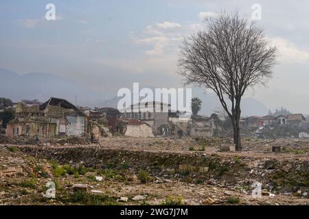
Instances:
[[[263,29],[240,17],[238,12],[222,12],[204,22],[203,31],[183,42],[179,73],[186,83],[216,93],[231,118],[233,140],[240,151],[242,96],[247,88],[264,85],[271,77],[277,49],[264,38]]]

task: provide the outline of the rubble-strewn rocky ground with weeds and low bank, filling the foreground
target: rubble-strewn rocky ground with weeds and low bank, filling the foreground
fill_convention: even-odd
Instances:
[[[309,204],[309,140],[245,138],[242,152],[221,152],[227,138],[85,141],[2,142],[0,204]],[[55,198],[45,197],[50,181]],[[257,182],[260,198],[252,196]]]

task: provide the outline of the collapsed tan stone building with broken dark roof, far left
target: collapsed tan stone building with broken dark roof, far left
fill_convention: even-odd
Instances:
[[[15,118],[8,123],[8,136],[84,136],[88,117],[65,99],[50,98],[43,104],[18,103]]]

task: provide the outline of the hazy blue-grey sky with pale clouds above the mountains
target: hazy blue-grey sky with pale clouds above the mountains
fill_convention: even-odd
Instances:
[[[56,5],[46,21],[45,5]],[[309,113],[309,1],[0,1],[0,68],[52,73],[102,92],[122,87],[179,87],[179,44],[220,10],[251,18],[262,6],[266,38],[279,49],[268,88],[247,96],[266,106]]]

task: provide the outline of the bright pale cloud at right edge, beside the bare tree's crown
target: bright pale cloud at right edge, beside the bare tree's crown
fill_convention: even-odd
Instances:
[[[279,51],[279,62],[289,64],[309,64],[309,51],[297,48],[297,45],[285,38],[271,38]]]

